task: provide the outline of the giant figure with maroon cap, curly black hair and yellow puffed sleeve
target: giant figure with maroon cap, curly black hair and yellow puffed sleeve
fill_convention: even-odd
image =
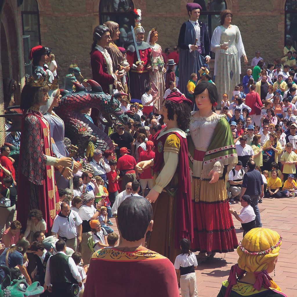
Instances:
[[[154,135],[155,157],[139,162],[142,173],[149,166],[154,172],[154,187],[146,198],[153,203],[154,231],[149,249],[174,262],[179,254],[179,241],[192,241],[190,175],[186,129],[189,128],[191,100],[173,92],[164,100],[160,113],[166,126]]]

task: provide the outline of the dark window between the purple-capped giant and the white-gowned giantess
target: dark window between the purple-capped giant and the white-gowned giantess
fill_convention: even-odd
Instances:
[[[193,2],[202,7],[199,20],[206,24],[211,38],[214,29],[221,25],[220,13],[227,9],[226,2],[224,0],[194,0]]]

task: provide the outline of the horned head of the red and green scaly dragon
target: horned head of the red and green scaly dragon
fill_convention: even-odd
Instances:
[[[91,85],[93,92],[94,90],[97,91],[99,90],[99,88],[101,88],[100,85],[94,80],[88,80],[87,82]],[[125,93],[116,93],[115,95],[110,96],[102,92],[100,93],[100,96],[102,97],[102,100],[99,103],[98,109],[102,113],[102,116],[107,120],[108,124],[110,126],[113,125],[114,121],[112,119],[112,116],[114,116],[123,125],[127,125],[129,122],[129,117],[123,113],[120,107],[120,102],[117,98],[119,98],[120,96],[128,95]]]

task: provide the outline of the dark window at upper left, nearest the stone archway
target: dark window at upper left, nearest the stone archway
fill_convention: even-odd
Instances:
[[[38,4],[36,0],[26,0],[22,4],[23,35],[30,35],[30,46],[41,44]]]

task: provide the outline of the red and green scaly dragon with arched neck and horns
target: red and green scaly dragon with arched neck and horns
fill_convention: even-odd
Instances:
[[[126,116],[117,99],[119,96],[127,96],[124,93],[107,95],[102,92],[101,86],[94,80],[87,80],[91,86],[91,91],[75,82],[75,92],[61,90],[63,97],[59,106],[55,109],[57,115],[64,121],[65,137],[71,140],[71,143],[78,146],[77,157],[84,157],[85,149],[90,146],[90,142],[95,142],[94,147],[102,151],[110,149],[114,151],[114,146],[109,136],[103,131],[102,127],[97,127],[87,119],[80,110],[86,108],[97,108],[99,110],[98,119],[101,126],[112,127],[114,118],[122,124],[127,125],[129,118]],[[107,122],[100,118],[102,115]],[[96,141],[95,141],[96,138]],[[91,155],[92,156],[92,155]]]

